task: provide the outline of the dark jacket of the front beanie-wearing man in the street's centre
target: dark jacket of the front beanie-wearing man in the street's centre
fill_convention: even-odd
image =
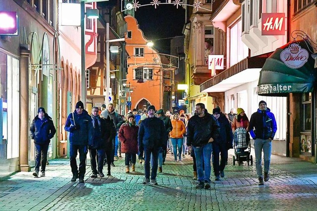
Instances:
[[[139,151],[143,149],[159,149],[168,139],[162,120],[157,117],[146,118],[141,122],[138,132]]]

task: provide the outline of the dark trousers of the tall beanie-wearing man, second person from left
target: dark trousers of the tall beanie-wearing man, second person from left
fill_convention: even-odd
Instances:
[[[70,144],[69,145],[69,161],[70,161],[70,167],[71,172],[73,172],[73,175],[78,175],[79,178],[84,178],[86,173],[86,157],[88,152],[88,147],[86,145],[75,145]],[[77,151],[79,152],[79,172],[77,169]]]

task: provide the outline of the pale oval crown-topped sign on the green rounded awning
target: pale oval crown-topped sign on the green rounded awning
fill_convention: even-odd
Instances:
[[[306,49],[298,43],[292,43],[285,48],[281,54],[280,58],[285,63],[287,67],[292,69],[298,69],[302,67],[308,61],[309,53]]]

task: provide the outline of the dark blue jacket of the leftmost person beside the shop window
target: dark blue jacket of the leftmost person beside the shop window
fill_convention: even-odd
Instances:
[[[30,133],[31,138],[36,144],[49,144],[50,139],[54,137],[56,129],[54,127],[52,118],[45,114],[44,119],[41,120],[37,115],[31,124]]]

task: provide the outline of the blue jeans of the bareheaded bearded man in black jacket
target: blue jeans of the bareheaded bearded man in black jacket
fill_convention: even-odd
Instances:
[[[198,181],[200,182],[211,182],[210,174],[211,174],[211,153],[212,153],[212,145],[211,143],[207,143],[202,147],[193,147],[196,157],[196,165],[197,165],[197,174]],[[203,163],[205,165],[205,171],[203,169]]]

